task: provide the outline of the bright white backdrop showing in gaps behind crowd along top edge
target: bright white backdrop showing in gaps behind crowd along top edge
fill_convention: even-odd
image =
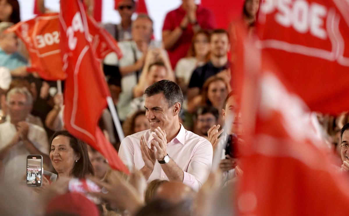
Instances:
[[[196,0],[198,3],[200,0]],[[29,20],[35,15],[34,0],[18,0],[21,9],[21,20]],[[161,30],[166,13],[176,9],[181,0],[145,0],[148,14],[154,21],[154,36],[161,40]],[[59,11],[59,0],[45,0],[45,7],[53,11]],[[102,23],[119,23],[119,13],[114,10],[114,0],[102,0]]]

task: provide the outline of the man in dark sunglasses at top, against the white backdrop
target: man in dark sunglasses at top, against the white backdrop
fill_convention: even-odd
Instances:
[[[117,41],[131,40],[131,25],[132,14],[135,12],[136,3],[134,0],[120,0],[115,1],[115,9],[118,10],[121,22],[119,24],[108,23],[104,28],[112,35]]]

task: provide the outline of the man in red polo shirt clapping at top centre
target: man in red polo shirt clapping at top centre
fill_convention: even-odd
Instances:
[[[200,29],[215,29],[213,12],[201,5],[195,5],[194,0],[182,0],[182,5],[170,11],[162,28],[164,48],[168,51],[171,66],[187,55],[194,32]]]

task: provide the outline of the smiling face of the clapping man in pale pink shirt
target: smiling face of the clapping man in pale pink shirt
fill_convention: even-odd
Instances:
[[[150,97],[146,97],[145,105],[146,117],[150,122],[150,129],[154,131],[156,127],[160,127],[166,132],[170,131],[172,126],[178,120],[179,103],[169,107],[169,104],[163,93],[159,93]]]

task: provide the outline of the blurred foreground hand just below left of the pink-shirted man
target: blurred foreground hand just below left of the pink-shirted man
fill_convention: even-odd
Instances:
[[[134,175],[133,178],[137,179],[136,181],[145,181],[142,175],[132,175]],[[91,180],[102,188],[102,192],[90,194],[109,201],[112,208],[128,210],[132,215],[143,206],[144,201],[141,195],[118,172],[112,172],[107,182],[102,182],[96,178],[91,178]]]

